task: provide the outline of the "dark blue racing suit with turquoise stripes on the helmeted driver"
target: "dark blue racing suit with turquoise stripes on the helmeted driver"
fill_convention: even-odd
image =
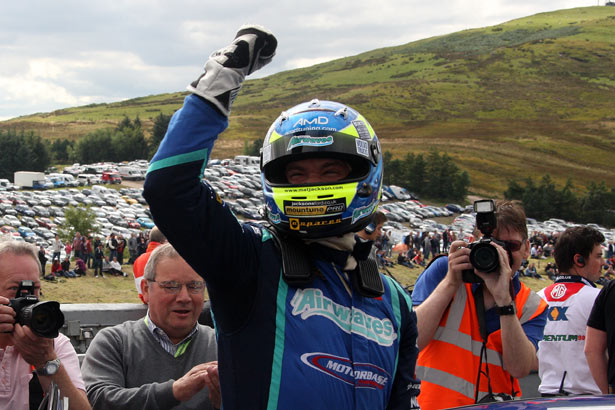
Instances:
[[[207,282],[223,408],[418,408],[409,296],[385,276],[383,296],[359,295],[343,272],[349,253],[318,246],[308,248],[319,275],[305,287],[288,285],[271,233],[240,223],[201,182],[226,126],[209,103],[189,95],[143,193],[156,225]]]

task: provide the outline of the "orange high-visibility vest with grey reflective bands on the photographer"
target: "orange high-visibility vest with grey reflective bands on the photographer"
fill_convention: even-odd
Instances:
[[[521,324],[541,314],[547,306],[523,283],[515,304]],[[474,404],[482,340],[472,285],[464,284],[444,312],[433,339],[419,353],[416,374],[421,379],[422,410]],[[486,372],[489,366],[493,393],[520,396],[519,381],[504,369],[501,330],[487,337],[486,349],[481,369]],[[487,376],[481,374],[478,400],[488,393]]]

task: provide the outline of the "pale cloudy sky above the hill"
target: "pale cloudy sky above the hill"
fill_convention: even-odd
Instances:
[[[256,7],[256,4],[261,4]],[[266,76],[604,0],[21,0],[0,3],[0,120],[184,90],[246,22],[278,38]]]

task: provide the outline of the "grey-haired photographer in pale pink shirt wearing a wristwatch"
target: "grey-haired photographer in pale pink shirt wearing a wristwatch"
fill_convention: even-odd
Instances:
[[[41,266],[36,248],[15,241],[0,242],[0,409],[37,408],[51,382],[55,382],[70,409],[90,409],[79,360],[68,338],[51,339],[15,323],[8,306],[22,281],[32,281],[39,297]],[[36,369],[33,370],[32,369]]]

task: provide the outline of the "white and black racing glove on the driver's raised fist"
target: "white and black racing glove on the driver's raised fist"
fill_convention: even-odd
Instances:
[[[241,26],[230,45],[212,53],[205,72],[187,87],[188,91],[205,98],[228,117],[244,78],[269,64],[277,45],[266,28]]]

